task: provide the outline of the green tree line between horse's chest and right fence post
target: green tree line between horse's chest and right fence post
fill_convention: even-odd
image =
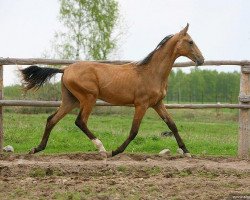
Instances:
[[[193,69],[172,71],[166,99],[174,102],[238,102],[240,74]]]

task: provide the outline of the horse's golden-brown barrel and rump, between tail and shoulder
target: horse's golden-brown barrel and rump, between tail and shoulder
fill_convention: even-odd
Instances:
[[[133,103],[137,73],[129,65],[79,62],[64,70],[63,82],[78,99],[85,94],[110,103]]]

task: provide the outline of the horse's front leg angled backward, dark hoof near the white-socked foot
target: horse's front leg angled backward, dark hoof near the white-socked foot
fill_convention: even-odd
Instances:
[[[134,119],[132,123],[132,127],[129,133],[128,138],[123,142],[121,146],[119,146],[115,151],[112,151],[112,156],[115,156],[119,153],[122,153],[126,147],[129,145],[129,143],[135,138],[135,136],[138,133],[141,121],[143,116],[145,115],[145,112],[147,110],[147,106],[136,106],[135,107],[135,114],[134,114]]]

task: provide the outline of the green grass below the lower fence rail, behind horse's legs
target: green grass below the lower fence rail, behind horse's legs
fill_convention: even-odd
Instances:
[[[104,108],[103,108],[104,109]],[[109,151],[126,139],[132,122],[130,108],[99,109],[91,115],[89,128]],[[189,151],[195,155],[236,156],[238,135],[237,110],[170,110]],[[115,114],[112,114],[115,113]],[[119,114],[120,113],[120,114]],[[48,114],[4,114],[5,145],[16,153],[26,153],[39,144]],[[96,151],[91,141],[74,124],[76,115],[69,114],[52,130],[47,148],[50,153]],[[126,152],[158,153],[168,148],[176,152],[173,137],[162,137],[168,130],[163,121],[149,110],[139,134]]]

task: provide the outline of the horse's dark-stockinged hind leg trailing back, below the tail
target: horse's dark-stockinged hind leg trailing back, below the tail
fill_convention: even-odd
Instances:
[[[34,154],[34,153],[44,150],[47,145],[50,132],[53,129],[53,127],[67,113],[69,113],[73,108],[77,106],[78,106],[78,101],[76,100],[76,98],[62,84],[62,104],[54,114],[48,117],[47,124],[46,124],[40,144],[37,147],[31,149],[29,153]]]

